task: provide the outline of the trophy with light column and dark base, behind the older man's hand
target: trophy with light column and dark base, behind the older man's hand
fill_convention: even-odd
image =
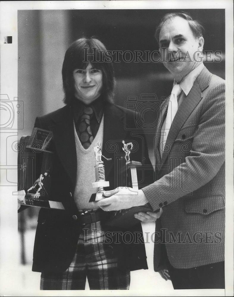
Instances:
[[[137,180],[137,171],[136,168],[141,166],[141,162],[137,161],[130,161],[130,153],[133,149],[133,143],[125,143],[125,141],[122,141],[123,143],[123,151],[125,152],[125,171],[127,172],[128,177],[128,184],[130,180],[130,176],[128,174],[128,169],[131,170],[131,184],[132,188],[135,191],[138,191],[138,180]],[[134,199],[134,198],[133,198]],[[138,213],[139,211],[146,212],[146,211],[152,211],[152,208],[150,207],[150,204],[147,203],[142,206],[135,206],[127,209],[121,209],[114,212],[114,215],[109,219],[107,222],[107,225],[112,227],[121,227],[121,228],[128,228],[131,226],[136,225],[136,223],[139,222],[138,219],[134,217],[135,213]]]

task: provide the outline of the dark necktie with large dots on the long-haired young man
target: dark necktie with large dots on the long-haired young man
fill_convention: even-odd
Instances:
[[[84,149],[88,149],[93,141],[93,135],[90,128],[90,117],[93,114],[92,107],[85,107],[78,121],[78,127],[76,127],[77,135]]]

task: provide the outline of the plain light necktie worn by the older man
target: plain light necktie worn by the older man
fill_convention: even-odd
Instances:
[[[167,136],[168,136],[172,121],[178,110],[177,98],[180,95],[181,91],[182,89],[180,88],[179,84],[174,85],[172,88],[172,93],[171,93],[168,108],[167,108],[167,118],[166,118],[165,130],[164,130],[165,135],[163,137],[163,150],[166,144]]]

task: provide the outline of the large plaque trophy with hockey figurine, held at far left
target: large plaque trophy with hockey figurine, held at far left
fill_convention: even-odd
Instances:
[[[34,128],[30,137],[21,137],[18,144],[20,149],[18,152],[20,167],[18,192],[14,195],[18,196],[18,201],[22,205],[65,209],[61,202],[49,200],[51,197],[50,172],[54,162],[52,140],[52,132],[40,128]],[[42,160],[40,168],[36,167],[37,158]]]

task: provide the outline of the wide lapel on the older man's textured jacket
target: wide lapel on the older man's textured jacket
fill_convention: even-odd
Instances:
[[[195,80],[188,96],[183,100],[175,115],[175,118],[172,122],[171,128],[168,133],[166,144],[174,142],[181,127],[187,121],[188,117],[193,112],[194,108],[202,99],[202,91],[204,91],[209,86],[210,80],[211,73],[207,70],[206,67],[204,67],[201,73],[198,75],[197,79]],[[169,150],[163,152],[161,165],[164,164],[168,154]]]

